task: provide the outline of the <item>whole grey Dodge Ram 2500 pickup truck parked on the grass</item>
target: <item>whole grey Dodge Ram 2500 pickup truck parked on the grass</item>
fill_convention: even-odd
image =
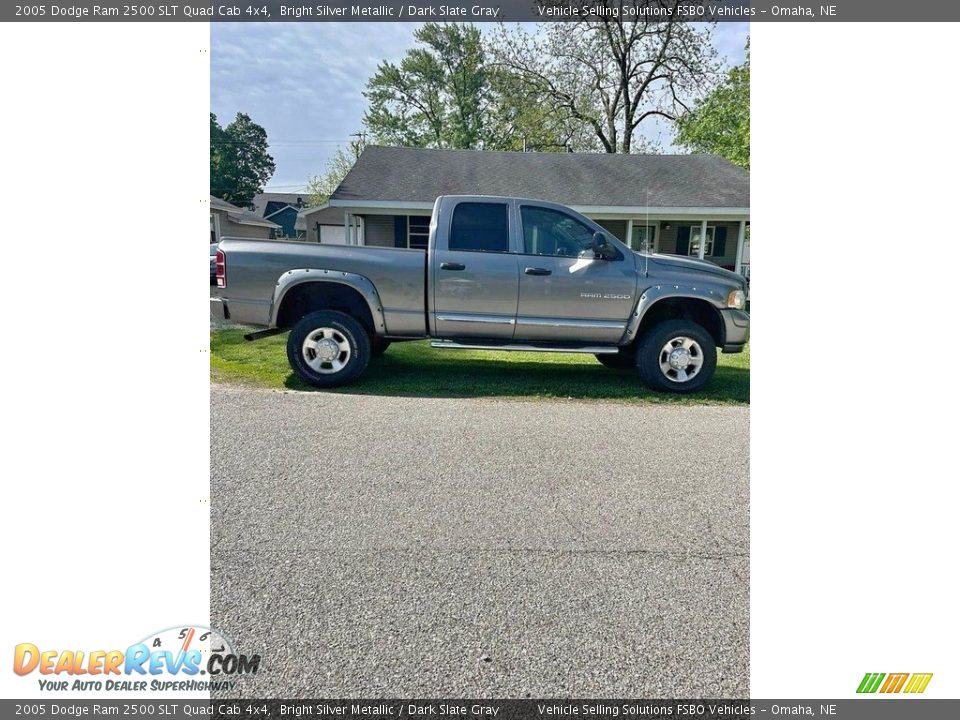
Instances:
[[[749,337],[744,279],[708,262],[636,253],[556,203],[442,196],[422,250],[225,238],[215,317],[289,329],[304,382],[355,380],[391,342],[576,352],[635,367],[661,392],[694,392],[717,349]]]

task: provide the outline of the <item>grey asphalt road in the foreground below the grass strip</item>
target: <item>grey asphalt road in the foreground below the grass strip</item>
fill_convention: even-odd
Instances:
[[[211,388],[234,697],[748,697],[748,408]]]

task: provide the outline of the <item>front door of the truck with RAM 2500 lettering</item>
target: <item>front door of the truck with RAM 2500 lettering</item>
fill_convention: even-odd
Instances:
[[[636,304],[633,253],[594,257],[594,229],[562,210],[520,206],[518,340],[616,343]]]

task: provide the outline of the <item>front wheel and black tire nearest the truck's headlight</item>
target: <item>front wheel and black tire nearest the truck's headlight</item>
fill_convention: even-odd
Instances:
[[[681,340],[690,341],[689,347]],[[666,370],[661,367],[661,361],[669,365],[665,346],[671,341],[681,341],[676,342],[677,349],[683,347],[687,351],[678,359],[680,362],[689,359],[689,364],[679,370],[673,366]],[[698,357],[700,362],[696,363]],[[691,368],[695,369],[691,371]],[[666,320],[655,325],[644,334],[637,347],[637,373],[647,387],[657,392],[697,392],[710,382],[716,369],[716,342],[710,333],[689,320]]]

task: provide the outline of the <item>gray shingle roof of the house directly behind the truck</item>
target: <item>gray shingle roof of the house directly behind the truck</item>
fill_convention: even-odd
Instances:
[[[575,206],[750,206],[750,174],[714,155],[610,155],[367,146],[331,200],[506,195]]]

